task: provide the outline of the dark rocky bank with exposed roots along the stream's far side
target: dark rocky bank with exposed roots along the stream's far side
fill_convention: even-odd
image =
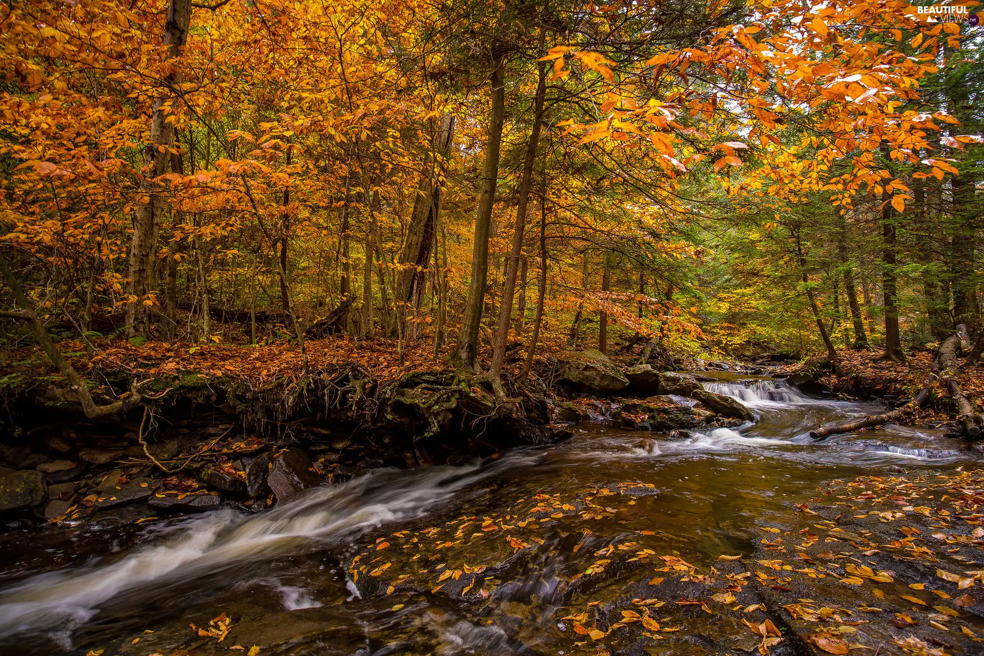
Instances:
[[[111,528],[222,505],[261,510],[363,469],[555,443],[583,421],[679,436],[754,418],[694,376],[621,369],[594,350],[560,354],[543,380],[511,388],[522,404],[505,410],[477,377],[453,370],[379,381],[340,364],[262,389],[182,372],[147,386],[143,414],[102,424],[80,417],[70,392],[44,389],[8,408],[2,525]]]

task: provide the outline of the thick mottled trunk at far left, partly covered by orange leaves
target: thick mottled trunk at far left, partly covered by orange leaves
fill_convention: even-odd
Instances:
[[[181,46],[188,35],[191,21],[191,0],[170,0],[167,22],[164,24],[164,39],[167,48],[166,59],[181,56]],[[177,84],[180,80],[178,67],[171,66],[164,88]],[[167,122],[164,108],[165,97],[154,100],[151,116],[151,140],[144,148],[143,179],[140,183],[141,196],[147,197],[138,203],[133,217],[133,236],[130,241],[130,281],[127,283],[126,323],[129,334],[144,334],[147,331],[147,305],[154,292],[154,267],[157,260],[157,240],[160,234],[163,211],[162,190],[155,179],[167,172],[171,161],[170,150],[174,148],[174,126]]]

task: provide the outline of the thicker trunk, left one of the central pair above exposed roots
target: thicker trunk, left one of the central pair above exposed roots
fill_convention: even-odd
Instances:
[[[485,304],[485,283],[488,276],[489,227],[495,206],[495,191],[499,178],[499,149],[502,146],[502,124],[506,105],[503,55],[493,58],[489,107],[489,132],[485,146],[485,167],[482,172],[482,191],[475,216],[475,238],[471,253],[471,279],[468,283],[468,299],[464,306],[464,318],[458,345],[452,357],[461,369],[475,369],[478,363],[478,327]]]

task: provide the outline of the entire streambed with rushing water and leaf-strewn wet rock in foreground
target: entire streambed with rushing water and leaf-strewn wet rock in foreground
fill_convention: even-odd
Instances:
[[[791,654],[815,643],[782,606],[850,609],[830,625],[842,627],[863,615],[858,608],[879,601],[862,594],[864,585],[881,583],[890,595],[902,594],[899,567],[862,575],[860,586],[841,582],[851,578],[841,567],[847,561],[873,572],[889,567],[879,554],[886,563],[898,561],[886,548],[867,556],[854,550],[839,565],[818,566],[821,557],[810,550],[836,535],[821,530],[843,531],[850,523],[832,501],[841,498],[838,486],[858,477],[904,485],[938,472],[969,471],[979,466],[980,452],[933,430],[895,425],[817,443],[811,428],[880,406],[813,399],[762,377],[722,375],[705,387],[741,400],[756,421],[672,438],[583,423],[563,444],[465,466],[370,471],[264,512],[220,509],[125,531],[62,531],[34,543],[8,542],[0,650],[85,654],[103,648],[104,656],[166,656],[247,653],[254,646],[260,654],[295,655],[765,648]],[[907,512],[925,518],[898,511],[902,520]],[[853,512],[858,518],[851,522],[865,520]],[[888,537],[876,538],[889,523],[854,532],[859,540],[888,543]],[[973,544],[972,525],[967,528],[971,537],[957,547],[971,555],[959,559],[964,570],[979,569],[984,566],[973,565],[973,550],[979,553],[980,546]],[[802,537],[810,531],[821,535],[812,542]],[[836,547],[856,544],[833,540],[841,543]],[[827,551],[817,553],[830,552],[827,542]],[[924,564],[926,571],[939,567],[939,557],[932,558],[937,563]],[[780,561],[778,568],[761,565]],[[755,573],[764,568],[776,582]],[[799,570],[803,581],[781,578]],[[913,571],[908,575],[922,569]],[[980,590],[981,581],[974,583],[961,589]],[[769,595],[781,595],[781,603]],[[818,601],[819,595],[832,601]],[[927,601],[910,606],[933,613],[927,609],[934,599]],[[951,644],[947,653],[975,653],[960,639],[984,651],[958,628],[984,634],[973,612],[981,601],[973,601],[954,608],[963,625],[938,619],[948,630],[931,629]],[[747,610],[757,604],[765,608]],[[886,608],[875,609],[884,617],[874,611],[864,617],[872,626],[838,628],[830,639],[858,645],[850,649],[869,656],[879,648],[901,653],[891,631],[908,630],[892,620],[904,604],[890,597]],[[765,628],[759,634],[741,620]],[[930,622],[923,620],[919,630],[930,630]],[[857,630],[864,637],[846,634]],[[928,635],[920,639],[936,633]],[[885,639],[887,646],[865,644],[865,638]]]

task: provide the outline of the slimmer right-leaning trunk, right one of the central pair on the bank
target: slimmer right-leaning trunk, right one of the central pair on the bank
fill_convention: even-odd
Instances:
[[[540,40],[542,41],[542,31]],[[543,98],[546,95],[547,69],[546,63],[540,62],[539,81],[536,85],[536,97],[533,102],[533,126],[529,131],[529,142],[526,144],[526,155],[523,161],[523,177],[520,180],[520,198],[516,209],[516,226],[513,232],[513,249],[509,254],[506,267],[506,278],[502,289],[502,303],[499,306],[499,324],[496,327],[495,348],[492,352],[492,366],[489,376],[493,387],[501,385],[499,377],[502,365],[506,359],[506,342],[509,339],[509,328],[513,315],[513,294],[516,291],[516,278],[523,257],[523,237],[526,231],[526,208],[529,203],[529,188],[533,181],[533,164],[536,162],[536,147],[540,140],[540,124],[543,121]],[[498,389],[497,389],[498,393]],[[502,399],[500,399],[501,402]]]

